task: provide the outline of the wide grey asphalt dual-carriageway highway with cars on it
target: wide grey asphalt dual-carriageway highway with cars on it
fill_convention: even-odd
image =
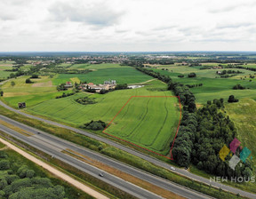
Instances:
[[[89,165],[90,170],[88,170],[87,163],[81,162],[79,160],[77,161],[76,158],[73,158],[72,156],[63,154],[63,153],[61,153],[61,151],[66,150],[66,149],[71,149],[72,151],[76,151],[77,153],[81,154],[81,156],[79,156],[80,158],[84,158],[83,155],[86,155],[94,160],[99,161],[100,163],[107,164],[108,166],[116,168],[119,171],[124,171],[134,177],[148,181],[151,184],[154,184],[158,187],[162,187],[168,191],[171,191],[177,195],[181,195],[186,198],[195,198],[195,199],[196,198],[198,198],[198,199],[209,198],[208,195],[202,195],[201,193],[197,193],[194,190],[190,190],[185,187],[180,187],[179,185],[176,185],[176,184],[172,183],[171,181],[168,181],[168,180],[165,180],[162,178],[158,178],[158,177],[156,177],[148,172],[145,172],[145,171],[140,171],[140,170],[133,168],[127,164],[124,164],[124,163],[118,162],[112,158],[109,158],[108,156],[101,155],[101,154],[96,153],[87,148],[77,146],[76,144],[68,142],[67,140],[57,138],[57,137],[52,136],[44,131],[40,131],[35,128],[29,127],[23,123],[18,123],[18,122],[13,121],[12,119],[5,117],[3,115],[0,115],[0,120],[4,121],[6,123],[11,123],[12,126],[19,127],[20,129],[23,130],[23,134],[24,133],[26,134],[26,131],[28,131],[28,132],[33,133],[34,135],[33,136],[25,136],[19,132],[15,132],[15,131],[8,129],[7,127],[5,127],[1,124],[0,124],[0,130],[12,135],[13,137],[15,137],[17,139],[20,139],[20,140],[28,143],[28,145],[31,145],[33,147],[36,147],[36,148],[44,151],[45,153],[47,153],[49,155],[53,155],[55,158],[58,158],[65,163],[69,163],[70,165],[75,166],[77,169],[82,170],[81,169],[81,168],[83,168],[82,164],[84,164],[86,166],[85,169],[87,171],[90,171],[89,174],[91,174],[91,175],[94,174],[93,176],[96,178],[99,178],[100,172],[104,172],[104,173],[106,173],[106,172],[99,171],[99,169],[97,169],[98,171],[95,171],[96,172],[95,173],[95,172],[93,172],[95,167],[92,166],[92,168],[93,168],[93,170],[92,170],[90,165]],[[78,162],[79,164],[77,164],[76,162]],[[79,166],[79,167],[77,167],[77,166]],[[82,170],[82,171],[84,171],[84,170]],[[87,171],[85,171],[85,172],[87,172]],[[105,176],[106,176],[106,174],[104,174],[104,177],[100,178],[100,179],[105,179],[106,178]],[[119,180],[117,180],[117,182],[116,182],[113,179],[114,177],[112,175],[108,175],[107,177],[108,177],[108,179],[110,177],[112,177],[112,181],[110,182],[111,185],[113,185],[113,186],[117,185],[116,187],[119,187],[122,190],[124,190],[124,188],[126,188],[126,189],[128,189],[128,190],[126,190],[126,192],[130,191],[130,192],[128,192],[130,194],[131,194],[132,189],[135,189],[135,191],[138,189],[138,187],[136,187],[136,186],[135,187],[137,189],[134,188],[134,186],[132,187],[131,183],[124,185],[124,182],[123,182],[124,180],[122,180],[122,184],[121,184],[121,182],[119,182]],[[108,183],[109,183],[109,181],[108,181]],[[121,187],[121,185],[124,185],[124,187]],[[140,193],[142,193],[142,194],[140,194]],[[149,195],[148,191],[146,191],[146,192],[145,191],[144,192],[137,191],[137,192],[135,192],[135,194],[136,194],[135,196],[140,195],[139,198],[143,198],[144,196],[148,196],[148,198],[159,198],[158,195]]]

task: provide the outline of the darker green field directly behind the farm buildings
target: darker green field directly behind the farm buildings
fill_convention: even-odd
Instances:
[[[53,79],[54,85],[66,83],[70,78],[77,77],[80,81],[87,83],[103,84],[105,80],[114,79],[116,84],[138,84],[152,79],[151,76],[146,76],[140,71],[131,67],[120,67],[116,65],[113,68],[108,68],[108,65],[101,65],[100,69],[87,74],[60,74]],[[96,68],[96,66],[93,65]],[[99,67],[99,66],[98,66]],[[91,68],[92,69],[92,68]]]

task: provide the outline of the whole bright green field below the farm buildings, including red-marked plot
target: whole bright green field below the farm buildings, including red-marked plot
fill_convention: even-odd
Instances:
[[[97,93],[77,93],[76,95],[68,98],[46,100],[37,104],[36,106],[29,107],[27,111],[36,115],[51,117],[53,120],[63,123],[70,123],[73,125],[81,125],[82,123],[88,123],[91,120],[102,120],[109,123],[131,96],[138,95],[172,96],[173,94],[170,91],[166,91],[166,84],[154,80],[148,83],[147,86],[140,89],[120,90],[108,92],[104,95]],[[83,96],[95,98],[97,103],[84,106],[75,101]],[[147,106],[145,107],[145,105]],[[140,144],[142,147],[148,147],[149,149],[165,155],[168,151],[168,144],[170,143],[170,140],[173,139],[173,135],[177,130],[180,120],[180,107],[177,106],[178,100],[176,98],[133,100],[132,103],[127,106],[131,107],[131,110],[126,114],[127,117],[125,116],[127,121],[129,120],[125,133],[131,131],[134,126],[138,125],[138,123],[144,125],[144,127],[146,127],[145,131],[141,131],[139,136],[144,134],[144,136],[147,135],[145,138],[148,138],[147,133],[152,133],[152,139],[148,139],[148,142],[145,142],[146,139],[144,139],[141,143],[140,141],[136,143]],[[136,112],[132,110],[136,110]],[[148,114],[145,115],[146,110],[148,110]],[[159,115],[159,113],[164,114]],[[144,116],[140,117],[140,115]],[[136,116],[136,119],[134,116]],[[117,129],[119,128],[118,125],[116,125],[116,127]],[[141,128],[138,127],[136,130],[134,130],[134,132],[136,133],[140,130]],[[114,134],[116,131],[118,130],[115,129]],[[160,136],[156,139],[158,134]],[[120,135],[120,138],[124,138],[124,136]],[[150,144],[149,142],[153,142],[154,138],[156,140],[154,143]],[[131,140],[135,139],[137,138],[133,138]]]

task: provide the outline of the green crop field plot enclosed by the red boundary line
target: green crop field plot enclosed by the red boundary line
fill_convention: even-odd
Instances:
[[[177,98],[133,97],[106,132],[166,154],[163,149],[170,145],[179,123],[177,106]]]

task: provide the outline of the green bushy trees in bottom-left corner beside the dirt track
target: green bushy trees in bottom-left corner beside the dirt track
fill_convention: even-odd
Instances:
[[[0,198],[65,198],[64,187],[54,186],[51,179],[36,176],[36,171],[27,165],[11,163],[5,151],[0,151],[0,171]]]

